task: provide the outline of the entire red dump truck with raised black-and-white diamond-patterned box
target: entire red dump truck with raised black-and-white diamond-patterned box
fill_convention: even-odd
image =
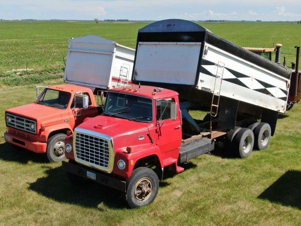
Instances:
[[[66,138],[63,168],[74,183],[92,180],[124,192],[132,208],[146,205],[167,168],[180,173],[217,146],[241,158],[265,149],[286,110],[290,74],[195,23],[150,24],[138,32],[137,85],[103,93],[103,114]],[[209,115],[194,120],[192,106]]]

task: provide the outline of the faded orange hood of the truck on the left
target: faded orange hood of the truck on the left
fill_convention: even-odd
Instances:
[[[6,110],[6,112],[37,120],[42,123],[51,122],[53,121],[53,119],[56,119],[56,121],[58,119],[62,119],[62,109],[45,106],[38,103],[31,103],[23,106],[13,107]]]

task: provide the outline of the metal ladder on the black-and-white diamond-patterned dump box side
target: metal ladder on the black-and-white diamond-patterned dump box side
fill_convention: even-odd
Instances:
[[[214,88],[212,92],[212,100],[210,106],[210,134],[212,133],[212,117],[216,117],[218,113],[224,69],[225,64],[219,61],[216,65]]]

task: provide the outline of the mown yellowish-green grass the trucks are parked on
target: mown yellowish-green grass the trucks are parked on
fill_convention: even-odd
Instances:
[[[48,84],[61,83],[60,79]],[[0,143],[4,110],[35,100],[35,85],[0,89]],[[301,107],[280,117],[264,151],[247,159],[213,152],[185,171],[166,170],[154,203],[128,209],[122,194],[91,183],[73,186],[60,163],[0,144],[0,224],[244,224],[301,222]],[[193,111],[202,119],[203,111]]]

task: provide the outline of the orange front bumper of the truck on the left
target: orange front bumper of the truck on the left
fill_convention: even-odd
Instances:
[[[30,140],[24,139],[23,137],[16,136],[10,132],[4,133],[4,139],[8,143],[25,148],[32,152],[46,153],[47,143],[30,141]]]

